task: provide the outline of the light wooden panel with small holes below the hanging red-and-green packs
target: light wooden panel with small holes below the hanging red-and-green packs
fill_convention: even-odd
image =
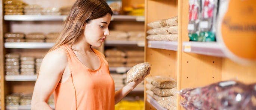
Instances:
[[[188,38],[188,1],[182,0],[182,41]],[[181,48],[181,47],[180,47]],[[181,51],[181,50],[180,50]],[[181,53],[180,88],[193,88],[221,80],[222,59],[199,54]]]

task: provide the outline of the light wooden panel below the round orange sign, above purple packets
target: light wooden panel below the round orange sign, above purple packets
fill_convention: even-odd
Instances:
[[[256,65],[239,65],[229,59],[222,61],[222,80],[237,79],[246,84],[256,82]]]

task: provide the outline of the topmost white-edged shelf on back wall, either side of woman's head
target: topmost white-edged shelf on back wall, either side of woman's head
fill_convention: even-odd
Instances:
[[[66,15],[4,15],[5,21],[65,21]],[[144,16],[112,15],[111,21],[144,22]]]

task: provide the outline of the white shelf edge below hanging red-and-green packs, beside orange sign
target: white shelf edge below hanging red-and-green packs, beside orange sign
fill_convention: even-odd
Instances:
[[[226,57],[223,47],[217,42],[183,42],[183,51],[209,56]]]

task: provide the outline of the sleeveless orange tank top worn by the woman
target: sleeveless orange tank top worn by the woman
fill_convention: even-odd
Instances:
[[[70,77],[57,85],[53,92],[55,110],[114,110],[115,86],[104,55],[93,49],[100,59],[100,67],[89,69],[81,63],[68,45]]]

